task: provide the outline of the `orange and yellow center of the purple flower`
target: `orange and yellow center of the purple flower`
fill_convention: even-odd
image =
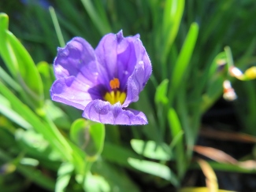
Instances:
[[[109,102],[111,105],[113,105],[117,102],[120,102],[122,105],[125,101],[126,93],[118,90],[120,87],[119,79],[113,78],[112,80],[109,81],[109,85],[112,90],[110,92],[106,92],[104,99],[107,102]]]

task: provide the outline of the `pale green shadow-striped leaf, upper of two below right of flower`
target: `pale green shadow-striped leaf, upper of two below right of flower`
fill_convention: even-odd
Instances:
[[[143,141],[139,139],[132,139],[132,149],[136,153],[154,160],[169,161],[172,158],[169,146],[165,143],[157,143],[154,141]]]

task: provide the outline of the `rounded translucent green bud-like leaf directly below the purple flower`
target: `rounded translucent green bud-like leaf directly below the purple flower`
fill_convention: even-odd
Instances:
[[[102,153],[105,127],[104,124],[79,119],[72,124],[70,137],[88,156],[94,158]]]

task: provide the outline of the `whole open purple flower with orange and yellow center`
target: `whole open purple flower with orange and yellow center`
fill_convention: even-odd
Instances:
[[[152,66],[139,35],[105,35],[94,50],[80,37],[58,48],[52,100],[83,110],[83,117],[103,124],[147,124],[147,117],[128,109],[150,78]]]

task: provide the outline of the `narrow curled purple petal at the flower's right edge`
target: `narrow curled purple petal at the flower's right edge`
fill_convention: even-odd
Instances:
[[[139,61],[138,64],[135,65],[132,76],[128,78],[127,97],[122,105],[123,107],[128,106],[131,102],[137,102],[139,100],[139,93],[144,89],[151,76],[152,66],[145,49],[143,49],[142,55],[142,61]]]

